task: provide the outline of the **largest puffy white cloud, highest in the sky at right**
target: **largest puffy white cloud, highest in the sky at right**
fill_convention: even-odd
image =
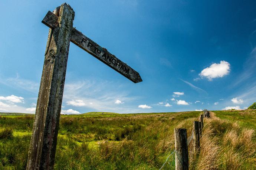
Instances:
[[[230,64],[227,61],[220,61],[220,64],[213,63],[199,74],[201,78],[207,78],[211,81],[213,78],[220,78],[228,75],[230,72]]]

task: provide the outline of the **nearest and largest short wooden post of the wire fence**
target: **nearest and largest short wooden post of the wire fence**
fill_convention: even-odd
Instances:
[[[174,129],[175,170],[188,170],[187,129]]]

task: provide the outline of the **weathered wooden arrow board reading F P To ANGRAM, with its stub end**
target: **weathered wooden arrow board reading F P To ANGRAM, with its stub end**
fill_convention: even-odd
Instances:
[[[56,17],[57,16],[55,14],[49,11],[43,19],[42,23],[50,28],[56,28],[56,23],[58,23]],[[106,48],[101,47],[90,38],[83,35],[80,31],[76,30],[76,28],[73,28],[72,30],[70,41],[91,54],[93,57],[99,59],[99,61],[119,72],[132,82],[138,83],[142,81],[141,76],[137,71],[115,57],[115,55],[108,52]]]

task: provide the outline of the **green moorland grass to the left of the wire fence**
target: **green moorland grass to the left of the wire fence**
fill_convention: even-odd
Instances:
[[[55,169],[159,169],[174,149],[174,128],[180,123],[190,128],[198,115],[61,115]],[[0,169],[26,166],[33,119],[33,115],[0,116],[0,129],[12,129],[11,137],[0,138]]]

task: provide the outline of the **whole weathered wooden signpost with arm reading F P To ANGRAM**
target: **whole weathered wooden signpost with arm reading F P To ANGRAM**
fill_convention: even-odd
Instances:
[[[73,9],[64,3],[42,21],[50,29],[27,170],[53,169],[70,41],[132,82],[142,81],[137,71],[73,28],[74,17]]]

